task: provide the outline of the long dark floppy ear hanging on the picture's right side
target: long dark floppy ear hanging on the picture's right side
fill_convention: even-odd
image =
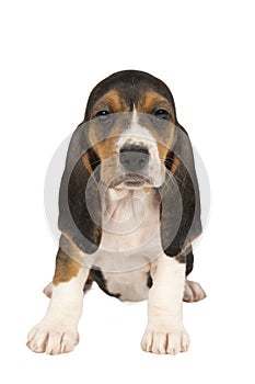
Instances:
[[[166,182],[161,193],[161,240],[164,252],[175,257],[201,233],[199,188],[193,148],[186,131],[176,125],[169,150]]]

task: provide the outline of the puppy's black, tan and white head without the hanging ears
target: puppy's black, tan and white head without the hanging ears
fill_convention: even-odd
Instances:
[[[85,122],[107,187],[163,184],[176,116],[172,94],[161,80],[139,71],[114,74],[92,91]]]

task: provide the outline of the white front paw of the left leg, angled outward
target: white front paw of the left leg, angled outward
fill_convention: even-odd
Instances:
[[[76,326],[43,319],[27,335],[27,347],[34,352],[59,354],[71,352],[79,342]]]

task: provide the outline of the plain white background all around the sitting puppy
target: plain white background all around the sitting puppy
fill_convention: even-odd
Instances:
[[[0,18],[1,381],[254,383],[253,1],[10,0]],[[47,166],[92,87],[121,69],[170,86],[207,167],[211,216],[192,276],[208,298],[184,305],[188,353],[142,352],[146,303],[94,287],[77,349],[35,354],[26,332],[46,310],[57,250],[43,207]]]

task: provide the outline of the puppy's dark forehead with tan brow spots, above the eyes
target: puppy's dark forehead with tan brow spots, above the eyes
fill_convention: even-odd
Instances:
[[[117,72],[100,82],[90,94],[85,120],[104,108],[111,112],[131,112],[136,108],[141,113],[164,108],[175,115],[173,97],[165,83],[140,71]]]

